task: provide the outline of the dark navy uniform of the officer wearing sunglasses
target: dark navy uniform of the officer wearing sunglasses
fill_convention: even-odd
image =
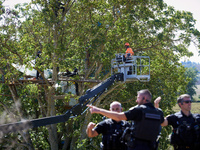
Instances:
[[[200,115],[186,116],[182,111],[167,117],[168,125],[172,125],[171,144],[175,150],[200,149]]]

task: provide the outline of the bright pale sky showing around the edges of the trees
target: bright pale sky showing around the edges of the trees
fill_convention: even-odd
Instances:
[[[4,6],[6,7],[12,7],[17,3],[24,3],[24,2],[30,2],[31,0],[5,0]],[[200,31],[200,0],[164,0],[165,3],[168,5],[174,6],[176,10],[185,10],[190,11],[193,13],[193,17],[196,19],[196,28]],[[198,62],[200,63],[200,56],[198,56],[198,49],[191,45],[189,47],[189,51],[194,53],[193,57],[190,58],[183,58],[181,61],[190,60],[192,62]]]

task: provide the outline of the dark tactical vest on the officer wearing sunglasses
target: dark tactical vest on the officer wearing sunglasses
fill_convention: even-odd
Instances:
[[[181,112],[174,114],[177,117],[177,128],[173,129],[171,134],[170,143],[179,146],[193,146],[199,149],[200,141],[200,125],[197,122],[196,115],[193,114],[193,122],[186,122]]]

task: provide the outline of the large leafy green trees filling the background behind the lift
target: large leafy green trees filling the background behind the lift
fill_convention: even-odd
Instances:
[[[55,89],[57,69],[63,72],[76,67],[84,79],[104,80],[110,76],[111,59],[116,53],[125,52],[125,42],[130,43],[135,55],[150,56],[151,80],[112,87],[95,105],[108,109],[111,101],[118,100],[128,110],[135,105],[136,92],[148,88],[153,99],[162,97],[161,108],[168,115],[176,97],[187,90],[190,80],[185,78],[186,69],[178,61],[192,55],[187,47],[191,42],[199,46],[200,33],[190,12],[176,11],[162,0],[35,0],[17,5],[15,10],[1,7],[0,14],[4,18],[0,26],[0,74],[5,80],[0,92],[12,95],[0,97],[6,106],[0,107],[1,114],[8,118],[3,123],[63,114],[71,95],[66,94],[63,100],[55,98],[63,94]],[[41,57],[35,62],[39,50]],[[18,79],[24,75],[13,63],[38,70],[46,85],[20,84]],[[51,83],[44,78],[45,69],[53,70]],[[13,82],[19,86],[9,84]],[[93,86],[80,83],[79,94]],[[100,116],[87,113],[66,123],[32,129],[26,132],[27,137],[13,134],[9,137],[15,141],[11,147],[21,143],[29,149],[88,149],[91,144],[99,147],[100,137],[89,139],[85,134],[90,118],[101,120]],[[162,131],[161,149],[167,147],[169,132],[170,128]],[[8,144],[9,141],[3,142],[2,147]]]

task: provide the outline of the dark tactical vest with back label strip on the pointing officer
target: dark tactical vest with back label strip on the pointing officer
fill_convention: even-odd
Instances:
[[[138,106],[142,109],[142,119],[134,121],[134,137],[141,140],[156,141],[161,124],[161,112],[145,105]]]

